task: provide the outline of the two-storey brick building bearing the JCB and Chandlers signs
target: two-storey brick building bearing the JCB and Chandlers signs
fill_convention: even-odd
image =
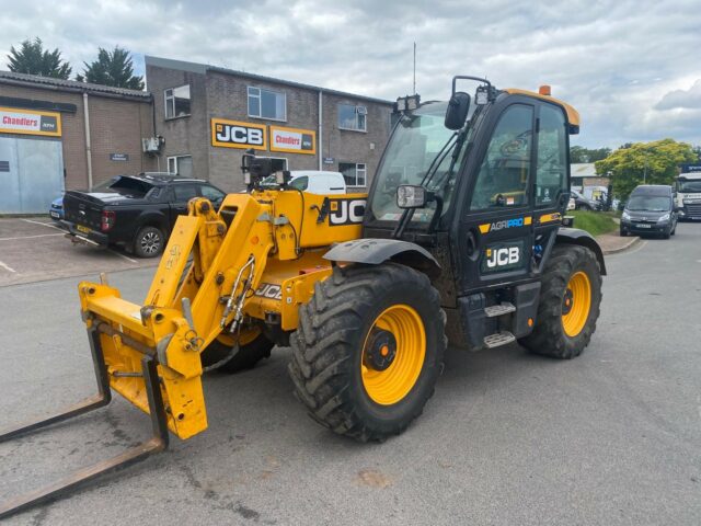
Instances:
[[[249,148],[277,169],[332,170],[365,191],[390,134],[392,103],[202,64],[146,57],[161,164],[243,188]]]

